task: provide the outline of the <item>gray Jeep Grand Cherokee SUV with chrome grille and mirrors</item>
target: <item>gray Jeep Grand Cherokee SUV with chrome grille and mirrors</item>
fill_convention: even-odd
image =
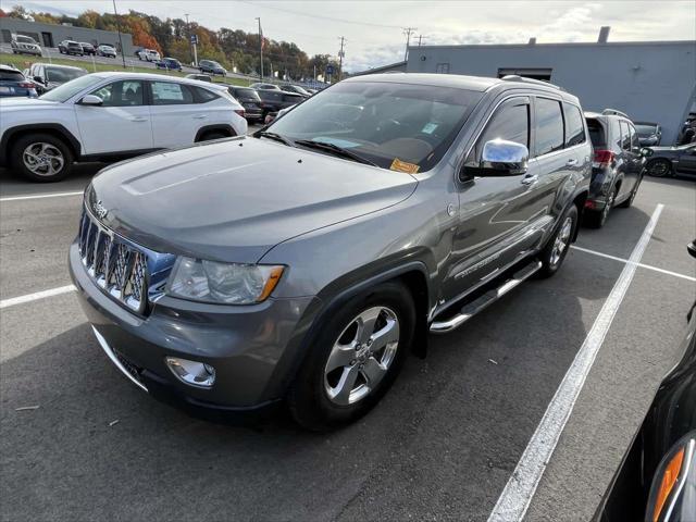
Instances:
[[[101,171],[71,273],[141,389],[333,428],[428,332],[559,269],[591,156],[577,99],[542,82],[350,78],[253,136]]]

